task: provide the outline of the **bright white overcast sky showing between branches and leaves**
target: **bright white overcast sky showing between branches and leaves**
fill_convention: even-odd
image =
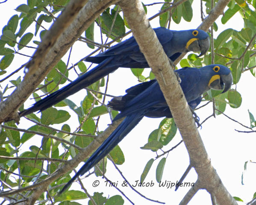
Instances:
[[[20,5],[21,3],[26,3],[25,0],[13,1],[8,0],[6,3],[0,4],[0,28],[6,25],[9,18],[16,14],[15,8]],[[154,2],[153,0],[144,1],[144,3],[151,3]],[[155,1],[156,2],[156,1]],[[203,2],[204,3],[204,2]],[[171,29],[173,30],[184,30],[184,29],[194,29],[200,25],[200,2],[194,1],[192,4],[194,8],[194,16],[191,22],[185,22],[182,20],[182,23],[175,24],[174,22],[171,23]],[[147,15],[151,17],[152,15],[156,14],[159,10],[160,6],[150,6],[147,7]],[[198,12],[195,12],[195,9],[198,9]],[[236,30],[241,30],[243,27],[243,22],[239,15],[237,14],[238,18],[235,20],[231,20],[227,22],[225,25],[221,24],[220,18],[217,20],[217,24],[219,27],[218,32],[214,33],[215,36],[218,35],[221,31],[227,28],[233,28]],[[152,27],[159,26],[159,18],[152,20],[151,22]],[[96,27],[96,26],[95,26]],[[32,26],[31,31],[34,33],[35,28]],[[97,35],[97,32],[95,32]],[[96,37],[96,36],[95,36]],[[39,37],[38,37],[39,39]],[[34,40],[34,39],[33,39]],[[100,42],[98,37],[95,38],[95,41]],[[35,46],[35,44],[31,44]],[[91,53],[91,49],[89,49],[85,44],[76,43],[74,44],[72,54],[71,54],[71,63],[76,63],[79,59],[82,59],[87,54]],[[21,53],[29,52],[32,54],[31,50],[26,50],[24,48],[21,50]],[[28,53],[26,53],[28,54]],[[67,56],[63,58],[63,61],[67,61]],[[20,67],[21,64],[24,64],[28,59],[24,56],[16,56],[15,55],[15,62],[13,62],[10,68],[7,69],[8,73],[12,72],[13,70]],[[89,64],[86,64],[89,65]],[[148,69],[149,70],[149,69]],[[148,71],[144,71],[148,72]],[[20,72],[19,75],[22,77],[24,76],[23,72]],[[145,74],[145,76],[147,76]],[[2,79],[4,76],[0,76]],[[16,79],[18,76],[15,76],[12,79]],[[69,76],[70,79],[75,79],[71,75]],[[108,93],[112,95],[122,95],[125,93],[125,90],[132,85],[137,84],[137,79],[132,75],[129,69],[120,68],[115,73],[110,75],[110,83]],[[1,84],[2,88],[5,88],[5,85]],[[238,120],[241,123],[249,126],[249,116],[247,109],[250,109],[251,113],[256,116],[256,107],[255,107],[255,94],[254,88],[256,87],[256,79],[251,75],[251,73],[245,72],[242,73],[240,82],[237,84],[236,88],[238,92],[240,92],[242,96],[242,105],[240,108],[233,109],[227,105],[225,114],[229,115],[230,117]],[[235,85],[232,86],[235,88]],[[83,96],[85,95],[85,91],[80,91],[79,94],[74,94],[71,100],[74,100],[77,105],[79,102],[83,100]],[[108,99],[110,100],[110,99]],[[31,105],[32,101],[28,101],[26,103],[26,107]],[[203,104],[203,103],[202,103]],[[201,104],[201,105],[202,105]],[[70,110],[69,110],[70,111]],[[71,111],[72,112],[72,111]],[[212,104],[200,109],[197,111],[197,115],[200,117],[200,121],[202,122],[206,117],[212,114]],[[40,116],[40,114],[39,114]],[[140,175],[144,169],[145,164],[150,158],[156,157],[154,152],[149,150],[142,150],[140,149],[141,146],[147,143],[147,138],[150,132],[154,129],[157,129],[159,126],[159,122],[162,119],[150,119],[144,118],[141,122],[136,126],[132,132],[124,138],[123,141],[119,144],[121,146],[122,151],[125,155],[125,163],[121,166],[118,166],[119,169],[122,171],[124,176],[127,178],[129,182],[132,184],[135,183],[136,180],[140,180]],[[76,122],[74,124],[73,122]],[[74,130],[77,124],[77,118],[74,117],[70,119],[69,125],[71,126],[71,131]],[[109,120],[109,116],[106,115],[102,117],[100,128],[101,130],[105,129],[107,125],[111,123]],[[21,124],[18,127],[30,127],[31,125],[27,124],[26,121],[21,121]],[[256,164],[248,163],[247,173],[244,178],[244,185],[241,185],[241,174],[244,167],[244,162],[248,160],[256,161],[255,155],[255,145],[256,145],[256,135],[253,134],[243,134],[238,133],[234,129],[244,130],[243,127],[239,126],[237,123],[228,120],[227,117],[219,115],[216,118],[210,118],[206,123],[203,124],[202,129],[199,130],[200,135],[203,139],[203,143],[206,146],[206,150],[209,154],[209,157],[212,160],[212,165],[217,170],[219,176],[221,177],[222,182],[227,187],[227,190],[231,193],[232,196],[238,196],[244,200],[244,202],[249,202],[252,197],[253,193],[256,192],[255,182],[256,182]],[[33,143],[38,145],[38,136],[33,137]],[[41,139],[41,138],[40,138]],[[165,146],[163,149],[166,151],[171,149],[174,145],[176,145],[181,140],[179,134],[175,136],[173,141]],[[23,150],[28,149],[31,144],[24,146]],[[161,152],[158,152],[161,154]],[[167,189],[163,187],[158,187],[156,182],[156,166],[160,159],[153,163],[151,167],[150,173],[147,175],[145,182],[154,183],[153,187],[135,187],[141,194],[155,200],[159,200],[160,202],[165,202],[167,205],[169,204],[178,204],[185,193],[189,190],[189,187],[180,187],[177,192],[174,191],[174,188]],[[172,152],[169,153],[166,164],[165,170],[162,176],[162,181],[167,180],[170,182],[176,182],[182,176],[183,172],[187,168],[189,163],[188,153],[185,149],[184,144],[181,144],[177,149],[174,149]],[[82,164],[81,164],[82,165]],[[106,176],[112,180],[112,182],[118,182],[118,188],[120,188],[128,197],[131,199],[132,202],[135,204],[147,204],[147,205],[155,205],[155,202],[147,201],[146,199],[139,196],[137,193],[132,191],[128,187],[122,187],[123,179],[115,170],[112,163],[108,161],[107,165],[107,173]],[[78,170],[78,168],[77,168]],[[185,178],[184,182],[195,182],[197,179],[197,175],[192,170],[188,176]],[[92,187],[92,183],[95,180],[100,181],[100,185],[98,187]],[[89,191],[91,195],[93,195],[94,191],[101,192],[104,189],[104,196],[110,197],[115,194],[120,194],[115,188],[113,187],[106,187],[104,179],[100,177],[96,178],[94,175],[83,180],[86,189]],[[80,189],[80,186],[77,183],[72,185],[72,188]],[[71,188],[70,188],[71,190]],[[123,197],[124,198],[124,197]],[[87,203],[87,200],[79,200],[81,204]],[[194,198],[191,200],[189,205],[198,205],[200,204],[211,204],[210,195],[205,190],[200,190]],[[127,199],[125,199],[125,205],[130,204]],[[244,204],[244,203],[239,203]]]

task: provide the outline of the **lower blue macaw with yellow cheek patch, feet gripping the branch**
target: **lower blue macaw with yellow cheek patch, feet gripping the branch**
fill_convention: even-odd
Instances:
[[[210,88],[228,91],[232,85],[230,69],[219,64],[207,65],[200,69],[185,67],[175,70],[181,79],[180,86],[188,105],[196,108],[201,102],[201,95]],[[143,82],[127,89],[123,97],[115,97],[109,107],[121,111],[113,121],[125,117],[123,122],[112,132],[102,145],[91,155],[75,176],[63,187],[60,193],[68,188],[77,178],[94,167],[105,157],[144,117],[172,117],[156,80]]]

